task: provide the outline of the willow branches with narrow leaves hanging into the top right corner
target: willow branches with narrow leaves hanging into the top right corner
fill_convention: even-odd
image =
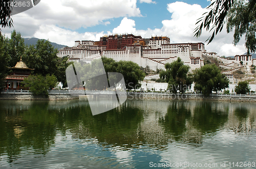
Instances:
[[[198,19],[198,26],[194,33],[196,37],[201,36],[202,29],[212,32],[212,35],[206,40],[210,43],[214,37],[222,31],[224,23],[227,23],[227,32],[234,29],[233,43],[236,45],[240,38],[245,34],[245,46],[247,52],[256,51],[256,1],[238,1],[238,0],[215,0],[207,7],[208,12]]]

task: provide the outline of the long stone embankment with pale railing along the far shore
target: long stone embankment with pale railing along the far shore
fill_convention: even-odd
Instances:
[[[7,93],[8,92],[8,93]],[[84,91],[52,91],[49,96],[46,95],[33,95],[29,92],[17,93],[17,91],[7,91],[0,94],[0,100],[71,100],[79,99],[79,96],[96,95],[106,96],[113,95],[112,91],[92,91],[85,95]],[[15,93],[16,92],[16,93]],[[115,93],[114,93],[115,94]],[[172,94],[172,93],[157,93],[157,92],[119,92],[119,96],[127,95],[127,99],[169,99],[169,100],[216,100],[216,101],[247,101],[256,102],[255,94],[237,95],[237,94],[211,94],[210,96],[203,96],[202,94],[184,93],[184,94]],[[125,96],[126,97],[126,96]]]

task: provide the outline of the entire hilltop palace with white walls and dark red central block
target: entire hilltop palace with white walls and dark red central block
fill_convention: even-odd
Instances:
[[[141,38],[141,36],[110,35],[103,36],[100,41],[75,41],[75,46],[58,50],[58,57],[69,56],[70,61],[90,63],[93,59],[105,56],[116,61],[133,61],[139,66],[149,66],[152,70],[164,69],[166,63],[172,63],[178,57],[191,70],[204,65],[203,56],[220,60],[231,70],[223,72],[233,80],[232,69],[239,68],[240,62],[253,65],[251,55],[236,55],[234,58],[221,58],[215,52],[206,52],[204,43],[170,43],[168,37],[154,36]]]

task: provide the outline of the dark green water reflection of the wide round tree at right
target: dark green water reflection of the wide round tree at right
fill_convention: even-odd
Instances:
[[[199,102],[193,116],[193,126],[202,132],[216,132],[228,120],[228,107],[218,107],[218,103]]]

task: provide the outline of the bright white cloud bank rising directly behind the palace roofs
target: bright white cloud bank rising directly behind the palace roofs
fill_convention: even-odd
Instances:
[[[168,4],[167,10],[172,13],[172,16],[169,20],[162,21],[163,26],[160,29],[136,30],[134,20],[123,18],[120,25],[117,26],[112,33],[108,32],[108,34],[133,33],[135,35],[141,35],[143,38],[168,36],[171,43],[204,43],[205,40],[211,36],[210,33],[203,30],[199,38],[194,37],[195,23],[197,19],[206,12],[206,9],[202,8],[200,5],[175,2]],[[205,43],[205,49],[210,52],[217,52],[219,55],[225,55],[226,57],[246,52],[243,39],[241,39],[237,46],[234,46],[232,41],[233,34],[227,34],[225,29],[223,29],[223,31],[215,37],[214,41],[208,45]]]

